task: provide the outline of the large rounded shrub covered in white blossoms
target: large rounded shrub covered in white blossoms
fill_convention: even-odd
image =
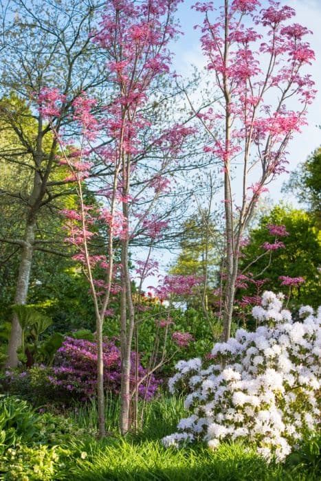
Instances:
[[[198,358],[179,361],[169,387],[188,386],[191,415],[164,445],[203,439],[215,449],[222,440],[243,439],[265,459],[284,460],[320,416],[320,314],[305,306],[302,322],[294,322],[283,295],[266,291],[252,311],[265,325],[216,344],[207,368]]]

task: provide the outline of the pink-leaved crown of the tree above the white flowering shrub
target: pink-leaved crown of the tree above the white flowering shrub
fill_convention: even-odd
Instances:
[[[225,10],[212,19],[213,2],[197,2],[195,9],[203,12],[201,45],[208,59],[208,71],[214,72],[214,87],[221,90],[227,102],[222,108],[198,114],[212,143],[204,151],[212,153],[228,172],[236,158],[260,162],[264,175],[249,189],[256,202],[267,189],[267,179],[285,171],[285,146],[294,133],[306,124],[305,111],[316,96],[311,76],[302,74],[314,53],[305,38],[311,34],[306,27],[291,23],[293,8],[279,1],[234,0],[228,3],[228,45],[225,45]],[[245,21],[246,15],[246,21]],[[249,27],[254,23],[258,27]],[[224,55],[228,48],[228,55]],[[278,99],[267,103],[265,99]],[[296,109],[289,109],[289,98],[296,99]],[[220,135],[217,125],[229,115],[230,138]]]

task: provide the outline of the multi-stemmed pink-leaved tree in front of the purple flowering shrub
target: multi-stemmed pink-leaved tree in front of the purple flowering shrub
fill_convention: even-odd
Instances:
[[[131,347],[135,329],[135,302],[132,295],[132,280],[129,272],[129,245],[131,240],[144,230],[153,241],[162,235],[166,222],[153,214],[151,206],[162,192],[169,189],[169,180],[164,177],[164,170],[179,152],[184,139],[193,133],[193,129],[174,124],[161,135],[150,139],[164,154],[159,164],[155,165],[153,177],[141,182],[139,192],[133,192],[133,175],[137,175],[135,159],[148,155],[142,140],[142,132],[150,127],[144,115],[157,77],[168,74],[170,53],[168,42],[177,34],[173,23],[173,14],[179,0],[153,1],[113,0],[107,3],[102,12],[102,19],[91,37],[107,52],[106,65],[111,71],[113,81],[113,98],[102,108],[100,118],[94,118],[91,109],[95,100],[80,94],[74,100],[74,118],[80,126],[77,148],[65,144],[60,138],[63,152],[62,164],[69,168],[70,182],[76,183],[79,200],[78,210],[65,210],[67,216],[66,240],[78,247],[76,260],[83,262],[89,280],[91,295],[96,312],[96,333],[98,342],[98,418],[100,436],[104,436],[104,392],[103,392],[103,353],[102,324],[104,317],[110,314],[111,295],[120,294],[120,348],[122,360],[121,381],[121,416],[120,428],[125,434],[130,427],[131,407]],[[63,102],[58,91],[45,91],[45,98],[39,98],[40,109],[50,118],[56,115]],[[56,132],[55,132],[56,133]],[[56,133],[57,134],[57,133]],[[58,136],[58,135],[57,135]],[[97,146],[98,136],[107,139]],[[113,172],[107,183],[100,183],[96,192],[103,199],[101,208],[86,205],[84,183],[89,177],[91,157],[98,156],[100,161]],[[138,207],[138,194],[146,190],[153,195],[148,207]],[[148,194],[147,194],[148,195]],[[95,227],[99,222],[107,226],[107,252],[104,256],[92,255],[91,240],[98,235]],[[120,245],[121,260],[114,262],[114,243]],[[140,265],[142,276],[146,275],[150,258]],[[104,279],[95,279],[93,268],[99,265],[105,269]],[[118,272],[118,280],[115,273]]]

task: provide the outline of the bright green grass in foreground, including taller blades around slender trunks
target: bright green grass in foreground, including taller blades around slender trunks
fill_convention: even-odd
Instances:
[[[184,449],[165,449],[160,439],[175,431],[184,416],[181,399],[160,398],[146,406],[144,429],[139,434],[120,438],[119,403],[107,403],[107,429],[113,433],[105,440],[88,438],[81,449],[87,453],[70,465],[67,477],[75,481],[318,481],[316,463],[307,467],[299,462],[267,465],[245,444],[222,444],[217,451],[202,445]],[[74,414],[82,427],[97,421],[96,407],[87,405]],[[75,441],[79,449],[79,440]],[[61,478],[63,479],[63,478]]]

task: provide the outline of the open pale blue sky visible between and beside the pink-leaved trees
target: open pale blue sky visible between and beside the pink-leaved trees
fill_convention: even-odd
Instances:
[[[214,5],[217,4],[219,6],[223,0],[213,1]],[[195,3],[195,0],[185,0],[179,5],[177,16],[184,36],[179,38],[171,48],[175,54],[173,58],[173,69],[183,78],[191,73],[191,65],[203,69],[206,63],[201,53],[199,30],[193,28],[195,24],[201,24],[203,18],[201,14],[195,12],[195,10],[191,10],[191,6]],[[267,0],[262,0],[261,3],[264,7],[267,5]],[[313,32],[313,35],[309,36],[309,42],[316,54],[316,61],[313,63],[313,66],[309,67],[309,74],[312,75],[313,80],[316,82],[316,89],[319,91],[316,100],[309,106],[307,115],[308,125],[302,128],[302,133],[297,134],[287,148],[289,152],[289,166],[287,168],[291,171],[295,170],[298,164],[305,161],[313,150],[321,144],[321,130],[318,128],[318,126],[321,125],[321,0],[281,0],[281,3],[289,5],[296,10],[297,14],[296,17],[292,19],[293,22],[300,23]],[[289,179],[289,174],[280,175],[278,179],[269,186],[269,193],[267,195],[274,203],[285,200],[297,206],[298,203],[294,197],[291,197],[292,194],[284,194],[281,192],[283,183],[287,181],[287,179]],[[160,260],[160,273],[164,274],[166,273],[166,265],[168,265],[169,262],[173,262],[175,256],[163,251],[157,252],[157,258]],[[157,284],[157,279],[146,279],[144,288],[146,289],[146,287],[151,284]]]

